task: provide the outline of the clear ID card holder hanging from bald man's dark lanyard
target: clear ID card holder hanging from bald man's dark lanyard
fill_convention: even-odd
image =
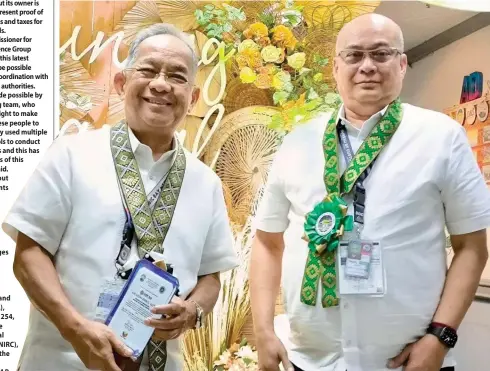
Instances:
[[[340,241],[337,254],[341,295],[383,296],[386,292],[383,254],[378,241]]]

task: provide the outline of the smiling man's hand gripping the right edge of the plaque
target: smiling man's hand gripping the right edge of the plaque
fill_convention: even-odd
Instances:
[[[196,305],[175,296],[167,305],[155,306],[152,313],[161,314],[161,319],[148,318],[145,325],[154,327],[153,340],[176,339],[185,331],[194,328],[197,319]]]

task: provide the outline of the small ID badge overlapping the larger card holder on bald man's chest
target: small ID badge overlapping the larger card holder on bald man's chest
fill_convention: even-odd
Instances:
[[[373,243],[371,241],[349,241],[345,274],[350,277],[369,278]]]

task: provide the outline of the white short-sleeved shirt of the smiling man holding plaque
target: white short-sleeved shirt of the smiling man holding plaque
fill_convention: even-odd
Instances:
[[[104,127],[60,137],[52,144],[3,224],[12,239],[21,231],[54,256],[64,292],[83,316],[93,319],[101,285],[114,277],[125,213]],[[158,161],[130,132],[131,146],[147,194],[167,174],[176,151]],[[237,265],[229,219],[218,176],[185,151],[186,170],[163,258],[174,267],[180,296],[198,276]],[[132,254],[137,254],[133,245]],[[167,342],[165,371],[181,371],[180,339]],[[20,371],[86,370],[54,325],[32,309]],[[140,370],[147,369],[147,359]]]

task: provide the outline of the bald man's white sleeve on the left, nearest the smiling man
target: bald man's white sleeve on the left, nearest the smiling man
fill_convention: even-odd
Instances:
[[[287,137],[276,152],[255,216],[255,228],[270,233],[284,232],[289,225],[291,203],[285,193]]]

